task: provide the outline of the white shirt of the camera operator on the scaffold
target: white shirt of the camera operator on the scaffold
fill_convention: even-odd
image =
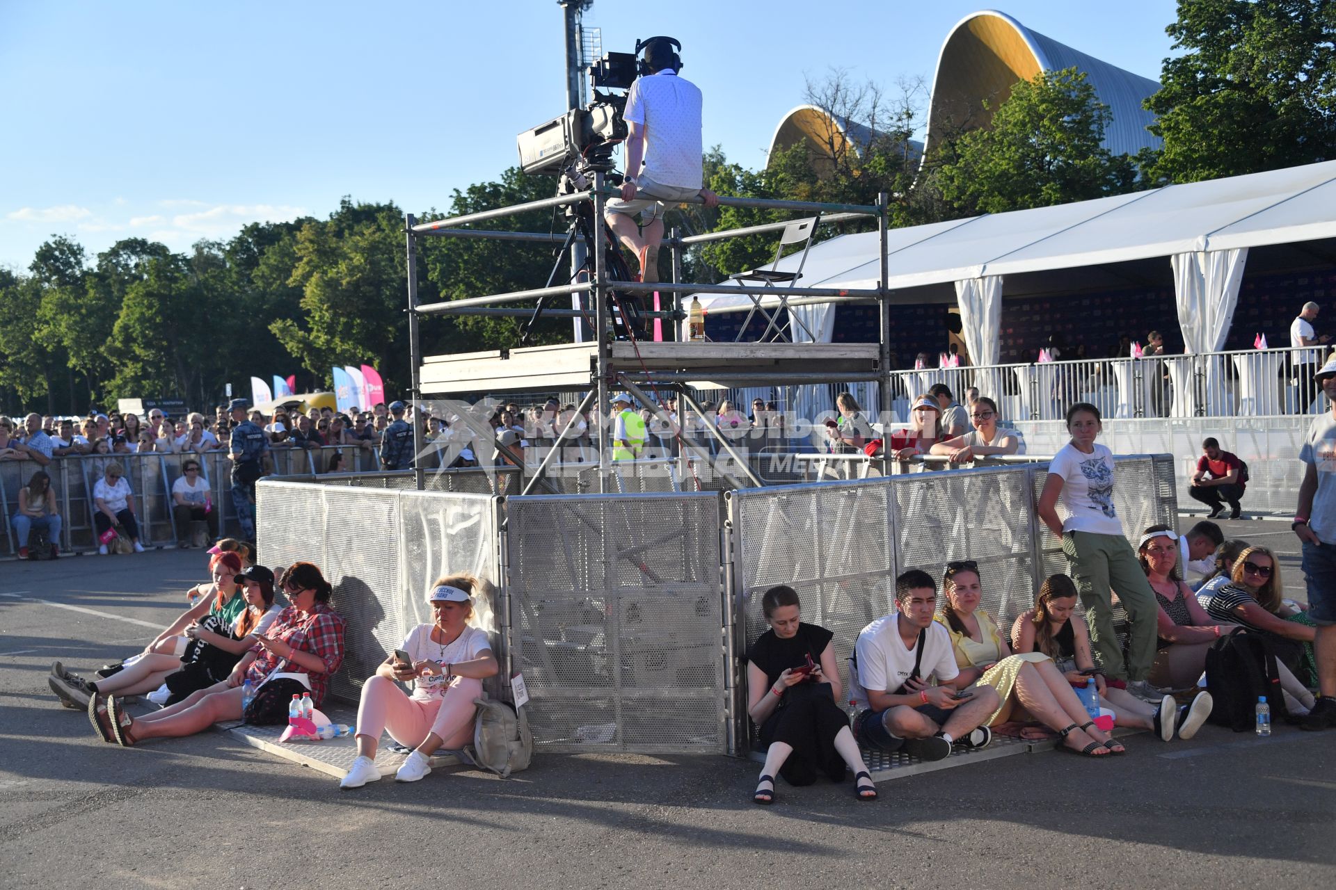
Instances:
[[[700,88],[673,71],[637,77],[627,92],[625,119],[645,132],[645,167],[627,171],[660,185],[704,184]]]

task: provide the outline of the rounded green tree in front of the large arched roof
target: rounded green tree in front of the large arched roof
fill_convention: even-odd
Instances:
[[[1132,159],[1101,145],[1110,120],[1083,72],[1039,72],[1011,88],[990,127],[943,145],[937,185],[957,216],[1132,191]]]

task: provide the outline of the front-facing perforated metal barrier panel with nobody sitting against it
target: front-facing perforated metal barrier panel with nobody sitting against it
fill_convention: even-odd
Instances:
[[[506,523],[538,747],[725,751],[717,496],[512,498]]]

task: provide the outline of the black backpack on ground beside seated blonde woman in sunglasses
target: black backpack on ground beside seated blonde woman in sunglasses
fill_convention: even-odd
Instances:
[[[1280,671],[1267,640],[1237,628],[1206,650],[1206,691],[1214,699],[1209,721],[1246,733],[1256,726],[1257,699],[1271,705],[1273,722],[1288,715]]]

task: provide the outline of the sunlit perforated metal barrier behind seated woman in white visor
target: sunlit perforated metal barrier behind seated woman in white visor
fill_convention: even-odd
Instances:
[[[314,486],[263,479],[257,484],[259,560],[277,571],[315,563],[334,586],[343,616],[343,664],[333,694],[357,701],[362,683],[415,624],[430,620],[426,592],[441,575],[484,582],[473,624],[492,635],[502,666],[508,626],[498,608],[496,500],[486,495]],[[509,699],[497,678],[488,691]]]

